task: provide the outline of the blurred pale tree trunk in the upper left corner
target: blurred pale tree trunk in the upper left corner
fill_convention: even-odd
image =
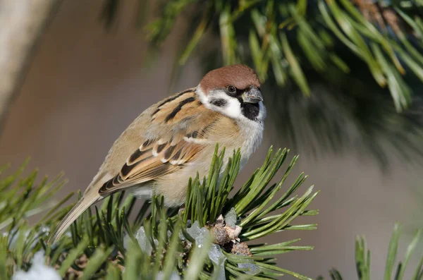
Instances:
[[[62,0],[0,0],[0,133],[44,28]]]

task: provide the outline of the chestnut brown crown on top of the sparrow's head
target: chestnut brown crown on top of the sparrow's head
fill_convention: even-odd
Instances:
[[[200,87],[207,94],[210,90],[226,88],[233,85],[239,90],[254,86],[259,88],[260,82],[252,68],[243,64],[224,66],[210,71],[200,82]]]

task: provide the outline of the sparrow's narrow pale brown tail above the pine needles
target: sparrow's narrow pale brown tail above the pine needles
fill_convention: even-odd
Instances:
[[[59,226],[56,227],[56,230],[50,233],[49,238],[47,239],[47,243],[55,243],[66,231],[66,229],[71,226],[73,221],[80,217],[82,212],[84,212],[94,202],[97,202],[97,200],[101,200],[102,198],[103,197],[101,197],[97,192],[85,193],[84,196],[71,209],[71,211],[69,211],[68,214],[66,214],[66,216],[61,220]]]

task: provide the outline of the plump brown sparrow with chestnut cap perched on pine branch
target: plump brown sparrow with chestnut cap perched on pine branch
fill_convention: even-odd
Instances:
[[[163,195],[166,207],[183,205],[189,178],[209,174],[216,143],[227,150],[240,148],[241,169],[262,142],[265,117],[259,79],[251,68],[232,65],[210,71],[197,87],[135,118],[47,243],[57,241],[92,204],[118,191],[146,199]]]

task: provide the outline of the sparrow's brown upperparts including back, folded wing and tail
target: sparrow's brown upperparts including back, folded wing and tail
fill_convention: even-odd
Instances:
[[[82,199],[62,219],[48,242],[54,243],[85,209],[102,197],[183,168],[210,145],[209,128],[215,122],[216,113],[202,106],[195,88],[168,97],[144,111],[116,140],[100,167],[100,175],[94,177]],[[122,165],[114,168],[115,164]],[[113,178],[103,183],[104,176]]]

